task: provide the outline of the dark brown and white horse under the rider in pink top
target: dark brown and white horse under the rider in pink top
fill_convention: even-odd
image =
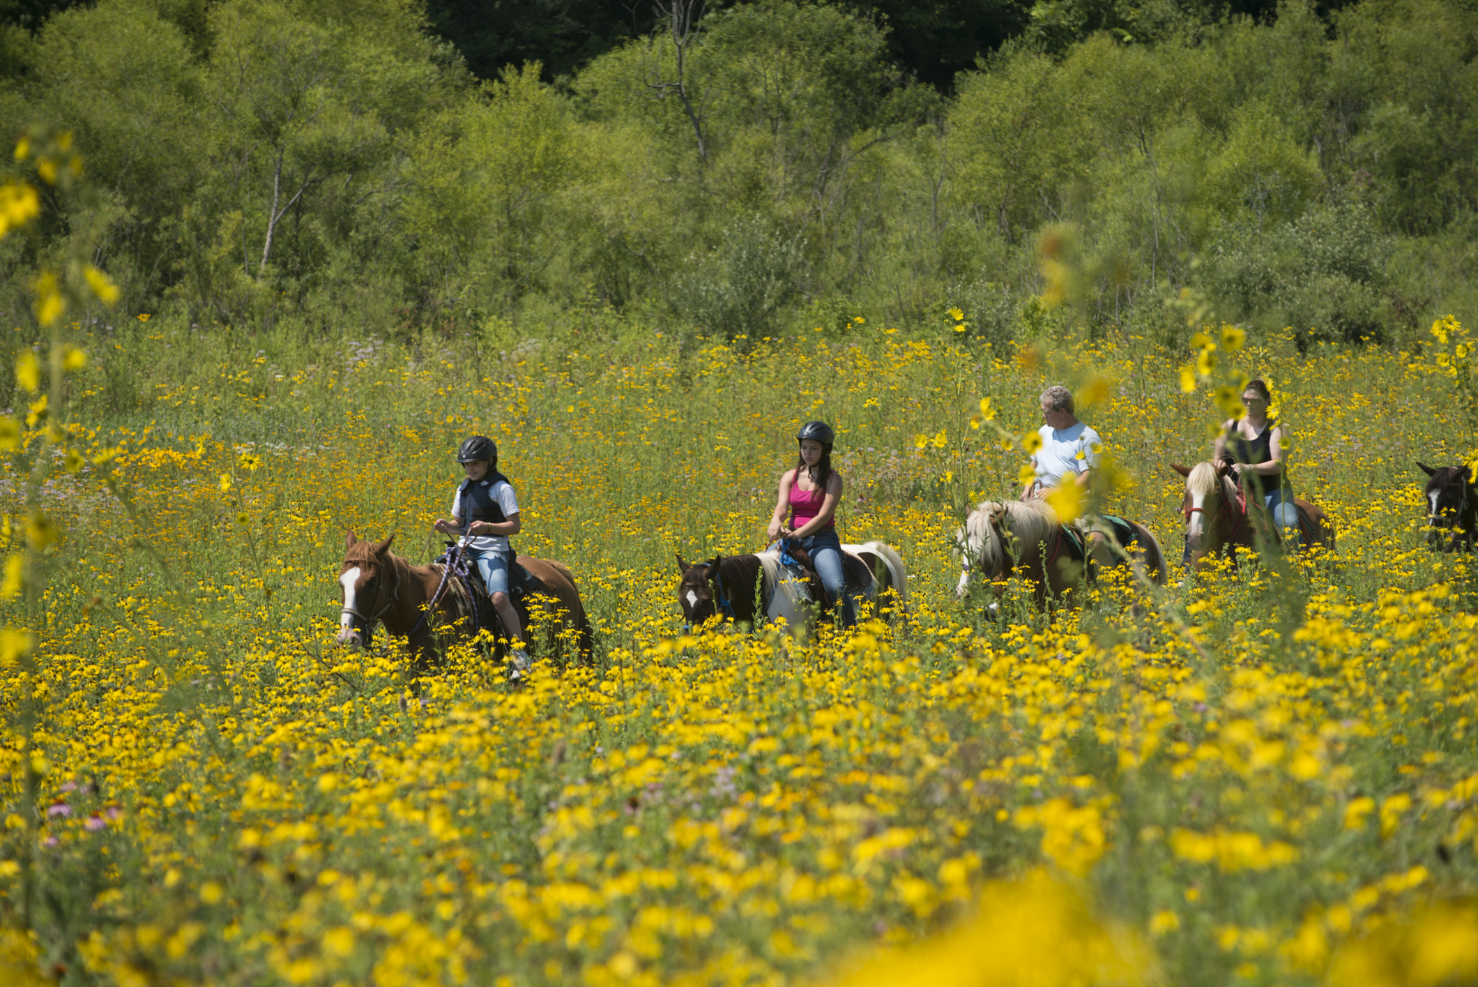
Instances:
[[[893,590],[897,604],[907,605],[907,573],[903,570],[903,558],[893,546],[882,542],[842,545],[841,553],[848,590],[860,590],[866,599],[876,599],[881,592]],[[810,562],[808,558],[797,561]],[[677,602],[683,607],[684,623],[696,626],[718,614],[726,620],[754,626],[754,587],[760,583],[760,613],[770,620],[783,617],[797,635],[810,627],[813,608],[785,585],[788,573],[780,565],[777,549],[758,555],[715,555],[692,565],[678,555],[677,568],[683,573]],[[822,598],[819,579],[810,579],[807,589],[811,598]]]

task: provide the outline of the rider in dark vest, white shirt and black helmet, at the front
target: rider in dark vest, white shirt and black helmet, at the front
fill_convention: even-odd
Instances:
[[[503,629],[513,641],[511,678],[519,679],[529,669],[519,611],[508,599],[508,562],[513,556],[508,537],[523,530],[519,500],[513,484],[498,472],[498,447],[491,438],[473,435],[457,450],[457,462],[467,471],[467,479],[452,497],[455,519],[437,518],[436,530],[454,539],[466,539],[463,558],[482,577],[492,608],[498,611]]]

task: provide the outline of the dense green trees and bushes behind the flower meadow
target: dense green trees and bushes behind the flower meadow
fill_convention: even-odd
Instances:
[[[0,117],[77,135],[133,312],[992,340],[1215,312],[1310,343],[1474,300],[1457,0],[10,0],[0,22]],[[46,213],[53,240],[77,220]],[[40,259],[4,243],[18,311]]]

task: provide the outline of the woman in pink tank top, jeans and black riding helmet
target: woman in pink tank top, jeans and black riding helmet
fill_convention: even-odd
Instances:
[[[811,565],[822,579],[826,595],[841,601],[841,621],[850,627],[857,621],[851,596],[845,592],[841,562],[841,540],[837,537],[837,505],[841,503],[841,474],[831,468],[831,447],[837,438],[825,422],[807,422],[795,434],[800,457],[795,469],[780,474],[780,496],[770,516],[769,537],[795,539],[811,556]],[[785,524],[789,512],[791,524]]]

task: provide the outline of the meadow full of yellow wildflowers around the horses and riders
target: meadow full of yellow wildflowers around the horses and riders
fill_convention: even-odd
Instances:
[[[1460,898],[1478,877],[1478,621],[1466,559],[1422,543],[1414,468],[1472,437],[1423,357],[1236,354],[1274,382],[1335,558],[1252,559],[1156,598],[1108,576],[1052,619],[1008,587],[989,621],[983,596],[953,598],[952,534],[1024,454],[971,428],[980,400],[1020,435],[1046,383],[1098,395],[1079,414],[1125,474],[1111,506],[1178,559],[1168,463],[1206,459],[1219,419],[1182,391],[1184,355],[866,327],[727,346],[154,323],[83,345],[74,417],[118,456],[47,482],[62,534],[41,661],[4,681],[12,710],[37,710],[0,753],[0,923],[34,929],[4,940],[15,971],[866,980],[900,969],[878,950],[977,916],[989,935],[905,965],[1354,983],[1351,963],[1478,929]],[[902,550],[909,613],[806,644],[683,635],[674,555],[757,550],[813,417],[838,429],[841,534]],[[590,664],[545,656],[523,690],[474,648],[412,682],[383,636],[333,642],[344,531],[430,559],[474,432],[517,487],[520,550],[571,565],[599,636]],[[1033,935],[1051,943],[1008,956]]]

